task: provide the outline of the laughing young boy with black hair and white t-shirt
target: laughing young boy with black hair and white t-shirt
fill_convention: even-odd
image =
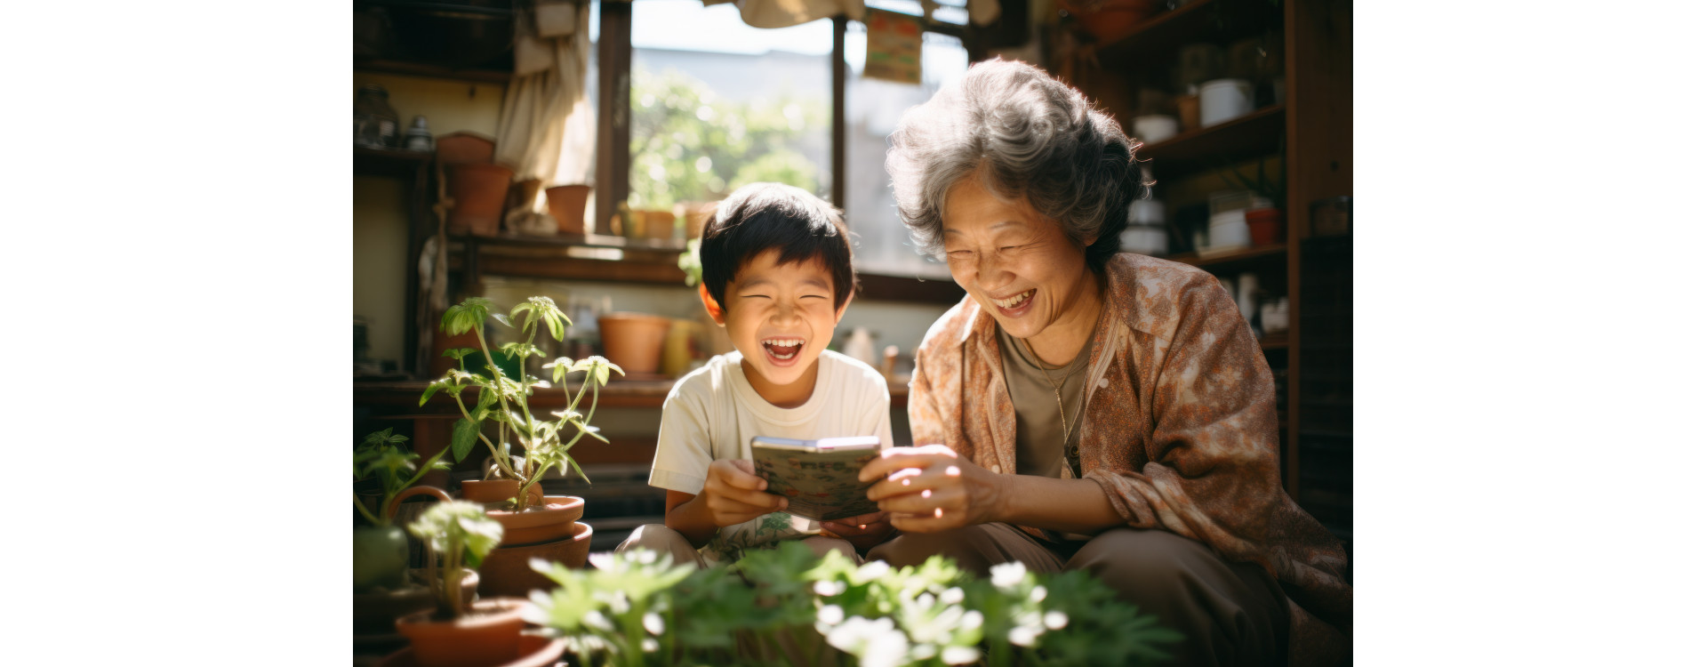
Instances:
[[[891,447],[889,386],[869,365],[826,351],[854,299],[842,215],[804,189],[754,183],[717,206],[700,239],[700,300],[736,351],[714,357],[664,399],[652,486],[664,525],[635,529],[616,551],[649,548],[676,563],[739,560],[802,539],[855,558],[893,531],[877,512],[835,522],[789,515],[754,474],[756,435],[876,435]],[[823,536],[818,536],[823,532]]]

